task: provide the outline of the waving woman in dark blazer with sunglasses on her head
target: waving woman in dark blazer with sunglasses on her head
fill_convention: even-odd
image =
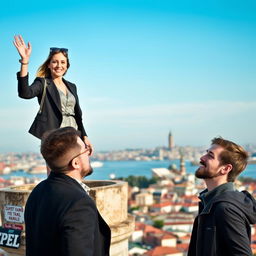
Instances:
[[[50,48],[48,58],[39,67],[36,79],[29,86],[28,64],[32,46],[30,43],[26,45],[20,35],[14,37],[13,43],[21,57],[21,69],[17,73],[19,97],[37,97],[40,104],[40,110],[29,132],[41,139],[46,131],[72,126],[81,132],[81,137],[89,146],[92,155],[93,147],[83,126],[76,86],[63,78],[70,66],[68,49]]]

